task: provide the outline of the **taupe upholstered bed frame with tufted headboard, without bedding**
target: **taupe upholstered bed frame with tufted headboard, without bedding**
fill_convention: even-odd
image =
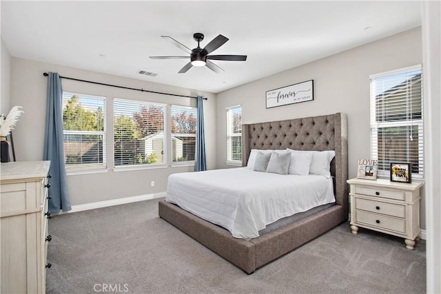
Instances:
[[[244,124],[242,139],[243,168],[247,167],[252,149],[335,152],[330,164],[335,203],[256,238],[235,238],[228,229],[203,220],[176,204],[159,202],[161,218],[250,274],[347,221],[347,118],[337,113]]]

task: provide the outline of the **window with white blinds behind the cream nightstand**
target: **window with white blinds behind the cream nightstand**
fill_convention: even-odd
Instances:
[[[412,178],[422,178],[422,118],[420,66],[371,76],[371,157],[379,176],[389,176],[389,162],[410,162]]]

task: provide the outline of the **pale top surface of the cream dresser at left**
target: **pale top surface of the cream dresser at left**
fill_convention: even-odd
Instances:
[[[16,161],[0,164],[0,180],[43,178],[48,175],[50,161]]]

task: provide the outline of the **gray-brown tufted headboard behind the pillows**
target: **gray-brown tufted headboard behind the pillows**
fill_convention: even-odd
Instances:
[[[347,116],[324,116],[278,120],[242,125],[242,164],[247,165],[251,149],[335,150],[331,175],[336,182],[336,204],[348,215]]]

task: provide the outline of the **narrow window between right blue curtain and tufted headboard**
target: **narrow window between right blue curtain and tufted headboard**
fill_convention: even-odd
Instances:
[[[227,164],[242,165],[242,107],[227,108]]]

